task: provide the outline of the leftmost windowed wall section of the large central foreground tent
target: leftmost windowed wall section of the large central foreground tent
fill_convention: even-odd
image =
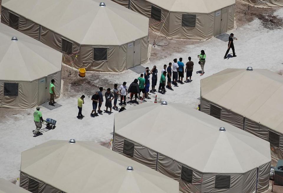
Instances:
[[[124,147],[124,140],[127,140],[131,143],[135,144],[134,147],[134,157],[127,156],[123,153],[123,147]],[[139,163],[144,164],[145,166],[148,166],[151,169],[156,169],[156,161],[157,161],[157,152],[144,147],[134,141],[131,141],[129,139],[123,138],[120,135],[115,134],[114,140],[113,140],[113,151],[116,151],[118,153],[123,154],[124,156],[131,158]]]

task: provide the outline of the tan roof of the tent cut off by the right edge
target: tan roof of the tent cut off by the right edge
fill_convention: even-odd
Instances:
[[[201,80],[203,98],[283,133],[283,77],[266,69],[226,69]]]

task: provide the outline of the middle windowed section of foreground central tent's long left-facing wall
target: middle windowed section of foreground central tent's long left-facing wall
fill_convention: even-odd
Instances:
[[[182,166],[193,170],[192,183],[188,183],[187,181],[181,179]],[[157,171],[165,176],[177,180],[179,182],[179,189],[181,192],[191,193],[200,191],[202,173],[191,168],[190,166],[186,166],[176,160],[173,160],[172,158],[158,153]]]

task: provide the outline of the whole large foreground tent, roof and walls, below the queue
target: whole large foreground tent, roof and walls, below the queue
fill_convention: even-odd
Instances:
[[[179,181],[185,193],[269,187],[269,142],[184,104],[143,103],[116,114],[113,151]]]

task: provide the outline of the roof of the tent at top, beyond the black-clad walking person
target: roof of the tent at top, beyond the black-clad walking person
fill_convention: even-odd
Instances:
[[[235,0],[147,0],[172,12],[210,13],[235,4]]]

